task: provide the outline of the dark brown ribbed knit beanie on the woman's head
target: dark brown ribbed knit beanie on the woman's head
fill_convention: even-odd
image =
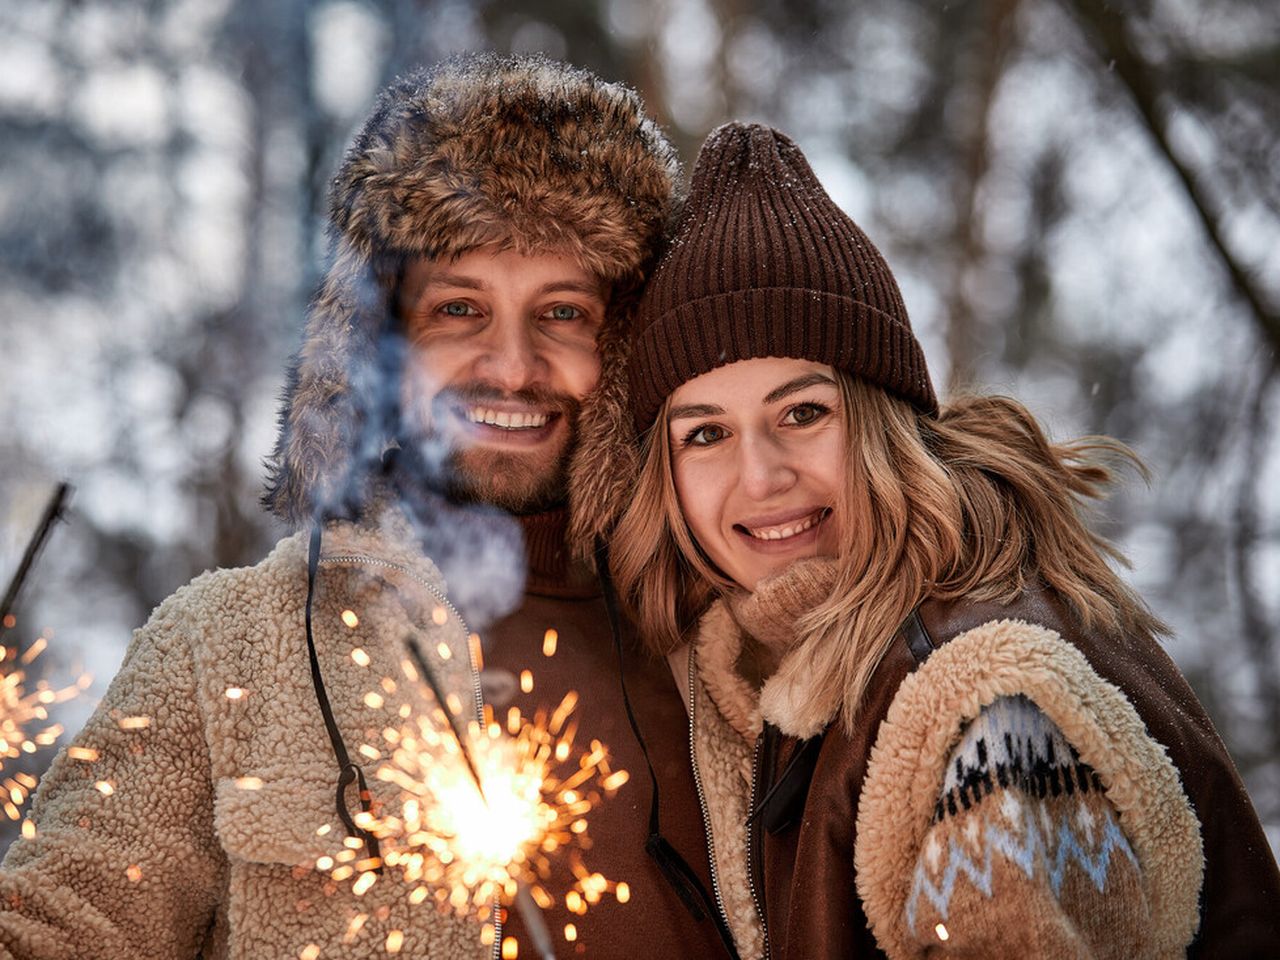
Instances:
[[[637,307],[636,429],[680,384],[753,357],[831,364],[937,412],[884,257],[785,134],[730,123],[698,154],[671,247]]]

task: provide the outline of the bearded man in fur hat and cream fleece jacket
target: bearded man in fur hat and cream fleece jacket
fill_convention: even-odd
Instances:
[[[515,911],[481,931],[410,904],[393,867],[360,893],[316,869],[343,838],[339,863],[375,863],[361,813],[398,809],[381,731],[435,705],[415,658],[463,722],[481,686],[503,718],[577,690],[580,749],[634,774],[539,882],[557,954],[717,954],[644,852],[645,760],[566,548],[579,408],[617,364],[676,166],[632,93],[544,60],[451,61],[383,95],[334,182],[265,498],[298,532],[137,632],[0,872],[0,957],[535,955]],[[681,696],[666,664],[631,657],[627,681],[663,829],[705,863]],[[575,870],[630,902],[582,915]]]

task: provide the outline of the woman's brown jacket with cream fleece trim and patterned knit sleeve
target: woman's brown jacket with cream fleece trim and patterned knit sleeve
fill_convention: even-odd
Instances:
[[[717,893],[742,956],[1249,957],[1280,942],[1280,874],[1257,815],[1156,643],[1076,630],[1039,590],[1010,605],[928,602],[878,667],[850,736],[840,723],[773,718],[768,695],[763,718],[719,716],[696,666],[708,634],[732,628],[716,614],[687,663],[691,723],[701,785],[750,797],[745,823],[716,803],[708,813]],[[974,721],[1023,698],[1065,755],[1025,776],[995,760],[960,776],[957,742]],[[753,723],[763,733],[744,762],[726,731]],[[989,748],[978,749],[986,762]],[[998,831],[992,842],[989,824],[1024,815],[1029,833],[1044,824],[1038,854]],[[1037,855],[1053,896],[1048,881],[1028,879]],[[1024,900],[993,909],[1001,884]]]

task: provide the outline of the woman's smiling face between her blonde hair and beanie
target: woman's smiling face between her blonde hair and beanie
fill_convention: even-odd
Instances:
[[[689,529],[739,586],[801,557],[835,557],[845,438],[835,371],[764,357],[717,367],[671,396],[668,442]]]

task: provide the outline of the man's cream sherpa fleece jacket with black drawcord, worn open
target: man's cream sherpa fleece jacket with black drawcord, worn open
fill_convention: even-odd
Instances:
[[[314,869],[344,829],[307,664],[306,566],[300,534],[255,567],[196,579],[134,634],[77,749],[40,786],[36,836],[0,870],[0,957],[385,957],[393,931],[406,956],[492,952],[479,922],[408,906],[390,874],[357,897]],[[467,630],[443,596],[439,571],[397,535],[326,527],[314,635],[367,773],[376,764],[358,746],[378,745],[420,695],[401,672],[406,636],[431,652],[462,716],[477,707]],[[371,709],[365,694],[384,676],[399,692]]]

